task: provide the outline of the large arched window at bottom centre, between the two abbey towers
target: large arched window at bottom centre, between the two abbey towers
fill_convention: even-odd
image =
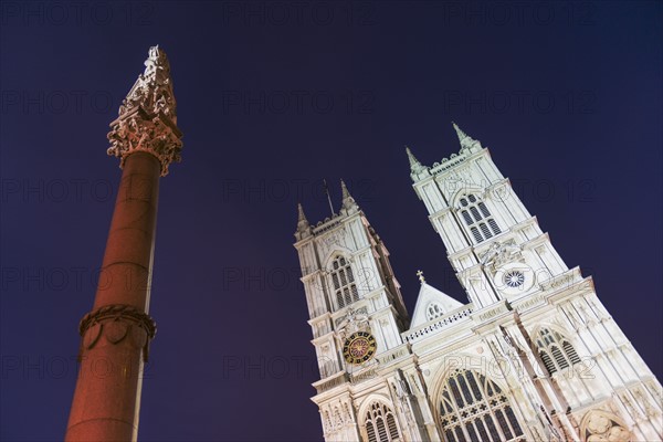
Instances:
[[[483,375],[455,370],[440,399],[440,424],[446,442],[525,441],[508,398]]]

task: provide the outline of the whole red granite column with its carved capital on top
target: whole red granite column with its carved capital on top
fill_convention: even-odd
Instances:
[[[146,66],[108,134],[108,152],[124,170],[94,307],[80,324],[67,441],[131,441],[138,434],[144,362],[156,333],[147,313],[159,177],[181,149],[166,55],[150,49]]]

